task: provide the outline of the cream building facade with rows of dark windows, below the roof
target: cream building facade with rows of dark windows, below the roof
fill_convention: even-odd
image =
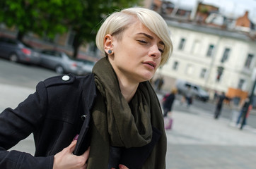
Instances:
[[[199,84],[211,96],[215,91],[228,92],[230,89],[250,93],[256,66],[255,39],[216,27],[173,20],[167,23],[173,39],[173,56],[158,74],[165,79],[170,77],[171,83],[182,79]],[[235,94],[238,93],[231,95]]]

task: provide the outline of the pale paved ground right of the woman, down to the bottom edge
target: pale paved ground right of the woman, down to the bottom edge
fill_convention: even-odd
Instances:
[[[173,110],[173,128],[167,130],[167,169],[254,169],[256,166],[256,132],[239,130],[230,120],[215,120],[212,115],[190,107]]]

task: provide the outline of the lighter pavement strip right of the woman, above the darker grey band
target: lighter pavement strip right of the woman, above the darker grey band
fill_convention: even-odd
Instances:
[[[170,144],[256,146],[255,130],[240,130],[228,120],[182,111],[173,111],[173,119],[173,129],[166,131]]]

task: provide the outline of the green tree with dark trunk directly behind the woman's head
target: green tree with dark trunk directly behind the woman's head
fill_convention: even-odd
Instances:
[[[139,4],[141,0],[81,0],[83,12],[71,23],[76,35],[74,37],[73,56],[78,54],[79,46],[83,43],[95,42],[95,35],[103,18],[117,9],[127,8]]]

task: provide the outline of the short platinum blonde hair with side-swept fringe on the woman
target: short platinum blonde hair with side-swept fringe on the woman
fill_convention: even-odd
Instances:
[[[98,30],[96,36],[96,45],[100,51],[104,50],[104,38],[105,35],[120,35],[124,30],[129,27],[129,25],[137,18],[144,26],[146,26],[151,32],[156,34],[165,44],[165,48],[162,54],[160,65],[164,65],[170,54],[173,52],[173,43],[170,39],[170,31],[165,20],[156,13],[147,8],[126,8],[122,11],[117,11],[109,15],[103,25],[101,25],[100,30]]]

